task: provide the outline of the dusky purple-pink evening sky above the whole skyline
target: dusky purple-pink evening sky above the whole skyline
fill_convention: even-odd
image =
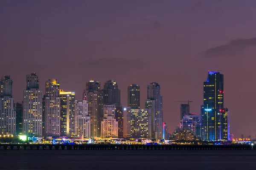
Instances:
[[[179,124],[180,104],[200,113],[208,70],[224,74],[231,133],[256,135],[255,0],[0,0],[0,76],[22,101],[26,74],[40,88],[55,78],[82,97],[90,79],[127,86],[149,82],[163,95],[164,122]],[[143,108],[143,107],[142,107]]]

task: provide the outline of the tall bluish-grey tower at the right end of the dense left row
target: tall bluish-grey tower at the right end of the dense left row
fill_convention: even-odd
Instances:
[[[163,96],[160,93],[160,85],[157,82],[151,82],[148,85],[148,99],[145,101],[145,107],[151,114],[152,136],[154,139],[163,138]]]

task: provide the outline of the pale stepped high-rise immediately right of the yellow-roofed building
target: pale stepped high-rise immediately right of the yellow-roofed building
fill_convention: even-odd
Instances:
[[[90,138],[90,116],[88,115],[88,103],[86,100],[75,101],[75,133],[76,136]]]

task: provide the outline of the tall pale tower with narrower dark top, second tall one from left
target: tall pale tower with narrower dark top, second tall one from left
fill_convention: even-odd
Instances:
[[[35,73],[26,75],[26,90],[23,91],[23,133],[27,136],[42,136],[42,91]]]

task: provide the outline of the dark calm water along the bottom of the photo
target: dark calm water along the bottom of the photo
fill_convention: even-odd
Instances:
[[[0,170],[256,170],[256,150],[1,150]]]

